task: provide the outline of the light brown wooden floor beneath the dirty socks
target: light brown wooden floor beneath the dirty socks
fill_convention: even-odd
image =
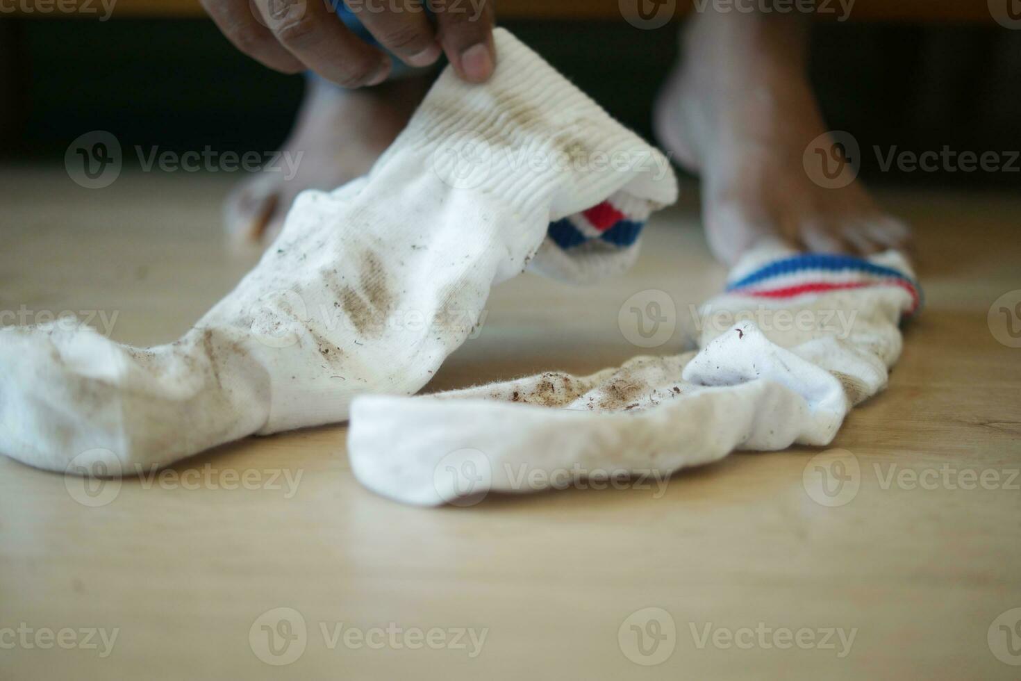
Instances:
[[[117,340],[175,337],[246,266],[220,240],[232,181],[125,174],[90,191],[62,169],[0,171],[0,310],[104,310]],[[693,194],[625,277],[499,288],[432,387],[623,360],[638,350],[618,309],[644,289],[686,318],[724,275]],[[916,227],[928,307],[889,389],[833,443],[860,466],[849,502],[813,500],[809,448],[733,455],[662,495],[433,510],[361,488],[344,426],[245,440],[105,497],[0,457],[0,678],[1017,678],[1021,348],[987,312],[1021,288],[1021,197],[880,198]],[[226,489],[232,472],[251,484]],[[927,488],[900,477],[914,474]],[[280,607],[296,613],[263,615]],[[65,628],[70,649],[48,638]],[[417,638],[433,628],[438,649]],[[112,648],[80,645],[88,629],[116,630]],[[486,630],[481,649],[469,629]]]

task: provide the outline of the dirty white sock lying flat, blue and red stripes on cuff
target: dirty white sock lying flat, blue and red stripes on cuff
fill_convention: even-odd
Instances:
[[[734,449],[825,445],[881,390],[920,291],[894,252],[868,260],[766,247],[702,305],[702,349],[574,377],[550,372],[354,401],[358,480],[406,503],[471,503],[591,476],[668,476]]]

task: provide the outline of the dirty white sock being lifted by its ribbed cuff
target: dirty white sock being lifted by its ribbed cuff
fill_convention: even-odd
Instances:
[[[495,45],[486,85],[448,68],[370,175],[302,194],[258,265],[175,343],[0,330],[0,451],[115,472],[343,421],[356,395],[425,385],[550,223],[611,199],[643,218],[675,200],[662,154],[507,32]],[[613,269],[612,246],[574,271],[538,260],[588,277]]]

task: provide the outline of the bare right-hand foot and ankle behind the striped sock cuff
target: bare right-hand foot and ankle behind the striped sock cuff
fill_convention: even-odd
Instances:
[[[654,125],[661,143],[701,176],[707,236],[724,262],[766,239],[849,253],[909,239],[908,228],[852,176],[810,177],[806,149],[833,147],[806,58],[807,25],[798,17],[707,11],[685,28]]]

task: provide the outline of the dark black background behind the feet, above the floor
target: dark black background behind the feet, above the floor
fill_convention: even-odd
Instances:
[[[640,34],[624,22],[504,26],[650,136],[649,106],[676,54],[676,26]],[[289,130],[303,87],[302,77],[263,68],[197,18],[5,17],[0,58],[0,159],[27,162],[59,162],[91,130],[110,131],[126,147],[269,151]],[[1021,149],[1021,31],[817,23],[811,76],[829,127],[859,140],[871,182],[1021,187],[1017,172],[879,173],[871,151]]]

